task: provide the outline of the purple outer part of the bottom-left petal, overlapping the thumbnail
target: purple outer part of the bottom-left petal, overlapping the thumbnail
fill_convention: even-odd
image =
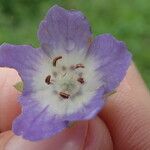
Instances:
[[[13,131],[23,138],[37,141],[51,137],[67,127],[66,122],[60,122],[51,116],[49,106],[41,106],[32,100],[30,105],[23,106],[22,114],[13,122]]]

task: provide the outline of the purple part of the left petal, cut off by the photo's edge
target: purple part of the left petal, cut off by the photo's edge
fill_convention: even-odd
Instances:
[[[16,69],[24,82],[24,90],[31,91],[31,83],[43,55],[45,53],[40,49],[28,45],[3,44],[0,46],[0,67]]]

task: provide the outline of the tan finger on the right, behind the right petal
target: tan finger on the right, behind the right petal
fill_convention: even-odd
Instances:
[[[101,113],[116,150],[150,148],[150,95],[132,64]]]

